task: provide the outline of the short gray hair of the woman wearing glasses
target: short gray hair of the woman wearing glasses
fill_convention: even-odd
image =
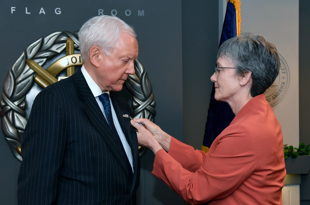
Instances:
[[[276,46],[262,35],[242,33],[228,39],[219,48],[217,59],[219,57],[233,63],[239,76],[252,72],[252,97],[263,94],[276,80],[280,70]]]

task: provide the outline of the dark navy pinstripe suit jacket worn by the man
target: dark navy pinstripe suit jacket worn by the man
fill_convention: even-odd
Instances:
[[[34,100],[21,144],[18,204],[136,204],[140,161],[130,106],[110,92],[131,146],[133,180],[79,70]]]

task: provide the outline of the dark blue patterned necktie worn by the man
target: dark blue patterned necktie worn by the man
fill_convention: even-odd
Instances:
[[[124,146],[122,144],[122,141],[119,138],[119,135],[118,135],[118,133],[116,131],[116,128],[115,128],[115,125],[114,125],[114,122],[113,122],[109,94],[103,93],[103,94],[99,95],[98,97],[99,97],[100,102],[103,105],[104,112],[106,113],[106,119],[108,121],[110,129],[111,129],[111,131],[112,131],[112,133],[113,133],[113,135],[115,137],[115,140],[117,142],[117,145],[119,146],[119,149],[121,150],[121,153],[122,153],[122,155],[124,157],[125,165],[126,165],[126,167],[128,169],[129,176],[132,179],[132,177],[133,177],[133,170],[131,168],[131,165],[129,163],[129,159],[128,159],[127,154],[125,152]]]

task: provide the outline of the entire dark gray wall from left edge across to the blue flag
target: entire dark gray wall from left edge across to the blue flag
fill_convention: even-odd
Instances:
[[[0,1],[1,85],[13,63],[32,42],[56,31],[79,30],[85,20],[98,15],[98,9],[107,15],[115,9],[117,16],[132,24],[137,32],[138,59],[147,70],[156,101],[155,122],[177,139],[183,141],[185,135],[186,142],[201,147],[212,85],[209,77],[218,44],[218,2],[77,0],[69,7],[60,0]],[[11,7],[15,7],[13,13]],[[30,14],[26,14],[26,7]],[[45,15],[39,14],[41,7]],[[60,15],[54,12],[57,7],[61,8]],[[127,9],[132,15],[125,15]],[[138,16],[138,10],[144,10],[143,17]],[[151,174],[153,160],[150,150],[141,157],[138,204],[183,204],[177,194]],[[0,204],[16,204],[19,166],[0,132]]]

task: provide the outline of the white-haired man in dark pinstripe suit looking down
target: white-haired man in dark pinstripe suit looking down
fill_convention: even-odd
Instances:
[[[138,43],[115,16],[79,31],[82,68],[34,100],[21,144],[18,204],[136,204],[140,161],[120,91]],[[124,117],[125,116],[125,117]]]

